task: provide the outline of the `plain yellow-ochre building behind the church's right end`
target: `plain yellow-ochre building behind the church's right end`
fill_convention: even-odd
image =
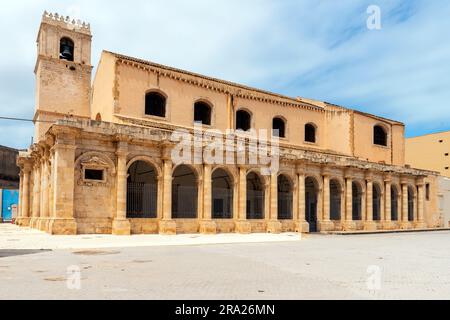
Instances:
[[[406,163],[450,178],[450,131],[406,139]]]

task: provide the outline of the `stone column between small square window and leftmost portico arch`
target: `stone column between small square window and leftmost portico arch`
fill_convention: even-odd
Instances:
[[[128,142],[126,139],[117,142],[116,156],[116,216],[112,223],[112,234],[129,236],[131,234],[131,224],[127,219]]]

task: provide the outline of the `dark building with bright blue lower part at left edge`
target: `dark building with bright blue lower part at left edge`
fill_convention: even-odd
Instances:
[[[19,167],[16,164],[19,151],[0,146],[0,221],[11,221],[18,212]]]

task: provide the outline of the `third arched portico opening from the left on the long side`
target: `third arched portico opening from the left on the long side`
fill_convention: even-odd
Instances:
[[[223,169],[217,169],[212,175],[213,219],[233,218],[233,182]]]

